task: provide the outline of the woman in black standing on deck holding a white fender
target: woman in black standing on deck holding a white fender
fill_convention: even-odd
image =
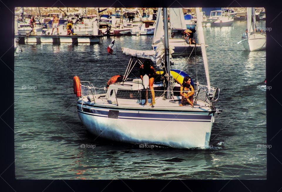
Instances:
[[[155,80],[156,71],[154,67],[151,65],[151,62],[146,60],[144,61],[144,64],[140,66],[139,72],[140,72],[140,77],[142,81],[143,81],[143,76],[145,74],[147,74],[149,77],[149,88],[152,93],[152,103],[150,105],[155,105],[155,91],[154,91],[153,84]],[[147,104],[148,104],[148,90],[146,89],[146,99],[145,99],[144,105],[147,105]]]

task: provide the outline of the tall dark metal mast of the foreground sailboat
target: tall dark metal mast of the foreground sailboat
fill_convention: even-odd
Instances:
[[[166,81],[166,98],[171,99],[171,90],[170,90],[170,64],[169,64],[169,47],[168,47],[168,30],[167,30],[167,8],[163,8],[164,11],[164,65],[165,72],[168,75]]]

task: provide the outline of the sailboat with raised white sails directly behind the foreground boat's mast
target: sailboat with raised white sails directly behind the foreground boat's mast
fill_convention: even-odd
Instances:
[[[186,29],[186,23],[184,20],[184,15],[182,8],[169,8],[170,12],[170,27],[172,31],[178,31]],[[162,20],[162,11],[161,8],[158,8],[157,12],[157,21],[155,27],[154,38],[152,41],[153,50],[155,50],[158,46],[163,44],[163,20]],[[170,31],[169,31],[170,33]],[[201,46],[199,44],[189,45],[184,39],[180,38],[171,38],[169,35],[169,45],[174,47],[174,53],[172,53],[172,57],[185,57],[189,56],[191,52],[196,51],[197,53],[201,53]]]

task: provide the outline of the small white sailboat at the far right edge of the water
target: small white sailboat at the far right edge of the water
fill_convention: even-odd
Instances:
[[[253,18],[253,23],[252,23]],[[266,35],[256,29],[256,16],[254,8],[247,9],[248,33],[242,35],[242,42],[247,51],[260,51],[266,49]]]

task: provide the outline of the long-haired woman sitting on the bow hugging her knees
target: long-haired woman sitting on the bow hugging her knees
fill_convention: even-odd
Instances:
[[[180,87],[180,95],[182,96],[181,104],[179,106],[190,104],[193,106],[194,88],[191,85],[191,78],[186,76],[183,79],[182,86]]]

